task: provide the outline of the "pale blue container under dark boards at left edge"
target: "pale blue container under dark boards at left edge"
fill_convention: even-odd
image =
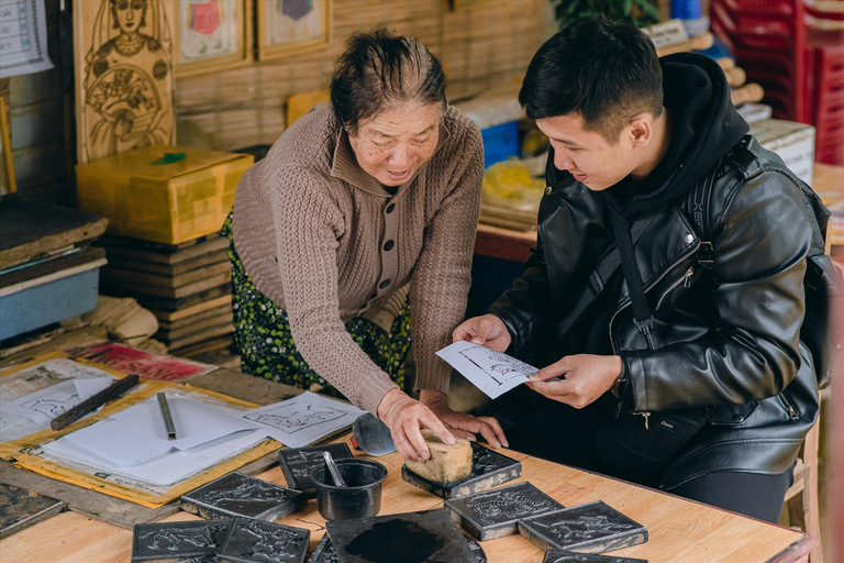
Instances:
[[[77,274],[0,295],[0,340],[88,312],[97,307],[100,265]],[[52,277],[52,276],[45,276]],[[36,285],[32,285],[36,284]]]

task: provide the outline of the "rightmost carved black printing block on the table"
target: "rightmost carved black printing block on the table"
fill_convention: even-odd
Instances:
[[[647,530],[601,500],[519,522],[519,533],[541,550],[603,553],[647,541]]]

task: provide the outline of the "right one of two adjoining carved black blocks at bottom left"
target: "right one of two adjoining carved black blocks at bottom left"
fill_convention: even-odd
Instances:
[[[225,563],[303,563],[311,532],[252,518],[235,518],[220,551]]]

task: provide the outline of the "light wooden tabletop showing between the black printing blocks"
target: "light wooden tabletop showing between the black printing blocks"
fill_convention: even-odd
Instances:
[[[341,441],[348,441],[348,438]],[[791,562],[803,561],[817,541],[802,532],[768,525],[691,503],[673,495],[557,465],[512,451],[522,462],[522,478],[565,506],[603,500],[644,525],[647,543],[612,552],[658,562]],[[442,508],[443,501],[401,478],[403,460],[393,453],[378,457],[389,471],[384,484],[381,515]],[[278,466],[260,478],[285,485]],[[511,483],[518,483],[514,481]],[[165,520],[196,520],[177,512]],[[311,550],[325,532],[325,520],[309,500],[303,510],[281,523],[311,530]],[[481,544],[489,563],[538,563],[543,552],[521,536]],[[63,512],[0,541],[3,563],[15,562],[126,562],[132,552],[132,532],[77,512]],[[397,562],[399,563],[399,562]]]

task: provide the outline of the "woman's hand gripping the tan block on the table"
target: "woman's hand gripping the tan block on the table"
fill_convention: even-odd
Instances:
[[[381,398],[378,404],[378,418],[390,429],[396,450],[408,460],[423,462],[431,457],[420,428],[432,430],[448,445],[454,443],[454,437],[436,415],[420,401],[404,395],[398,387],[393,387]]]

